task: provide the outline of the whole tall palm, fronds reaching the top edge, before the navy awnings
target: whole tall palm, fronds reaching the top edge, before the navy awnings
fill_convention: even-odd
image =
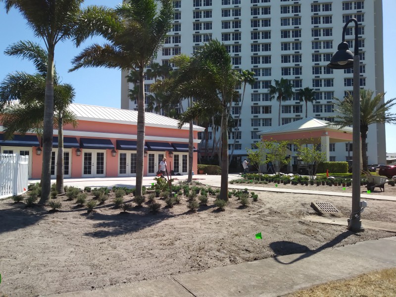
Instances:
[[[158,8],[157,2],[160,2]],[[87,7],[75,34],[76,46],[100,35],[108,43],[94,44],[73,59],[74,71],[81,67],[132,69],[139,74],[136,195],[142,195],[145,144],[145,67],[160,49],[173,20],[171,0],[134,0],[114,9]]]

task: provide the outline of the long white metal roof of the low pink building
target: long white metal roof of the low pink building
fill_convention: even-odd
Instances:
[[[80,103],[70,104],[69,110],[74,112],[74,114],[77,116],[77,119],[84,121],[99,121],[129,125],[137,125],[138,123],[138,112],[135,110],[87,105]],[[146,126],[151,127],[177,129],[178,125],[178,120],[151,112],[146,112],[145,121]],[[182,129],[188,130],[189,124],[183,125]],[[196,125],[193,126],[193,129],[196,131],[205,130],[204,128]]]

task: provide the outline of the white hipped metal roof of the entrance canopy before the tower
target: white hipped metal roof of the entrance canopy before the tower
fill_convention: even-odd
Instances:
[[[334,126],[332,125],[331,122],[324,121],[324,120],[319,120],[313,117],[307,117],[303,118],[301,120],[270,128],[268,130],[264,130],[261,132],[257,132],[257,135],[264,135],[264,134],[278,134],[278,133],[292,133],[292,132],[300,132],[300,131],[306,131],[306,130],[320,130],[320,129],[325,129],[325,130],[340,130],[342,132],[347,132],[347,133],[352,133],[352,128],[350,127],[345,127],[342,129],[339,129],[339,126]]]

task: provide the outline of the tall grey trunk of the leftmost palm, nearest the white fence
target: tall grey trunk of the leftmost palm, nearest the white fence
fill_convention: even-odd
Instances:
[[[46,204],[51,191],[51,153],[53,137],[53,53],[54,45],[48,45],[46,93],[44,101],[43,163],[40,204]]]

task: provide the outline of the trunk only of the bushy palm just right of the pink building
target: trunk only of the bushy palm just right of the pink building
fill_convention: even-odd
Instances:
[[[227,110],[223,106],[221,119],[221,182],[220,199],[228,201],[228,129],[227,129]]]

